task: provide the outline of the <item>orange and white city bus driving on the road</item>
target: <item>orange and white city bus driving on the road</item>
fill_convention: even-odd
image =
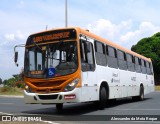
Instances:
[[[18,54],[15,54],[17,62]],[[151,59],[81,28],[32,34],[25,44],[24,99],[28,104],[143,100],[154,91]]]

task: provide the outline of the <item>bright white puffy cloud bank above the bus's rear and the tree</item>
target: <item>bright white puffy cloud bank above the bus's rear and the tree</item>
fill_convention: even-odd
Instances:
[[[115,24],[110,20],[99,19],[98,21],[88,24],[88,29],[91,32],[129,49],[140,39],[150,37],[160,31],[160,27],[148,21],[141,22],[137,28],[135,27],[132,20]]]

